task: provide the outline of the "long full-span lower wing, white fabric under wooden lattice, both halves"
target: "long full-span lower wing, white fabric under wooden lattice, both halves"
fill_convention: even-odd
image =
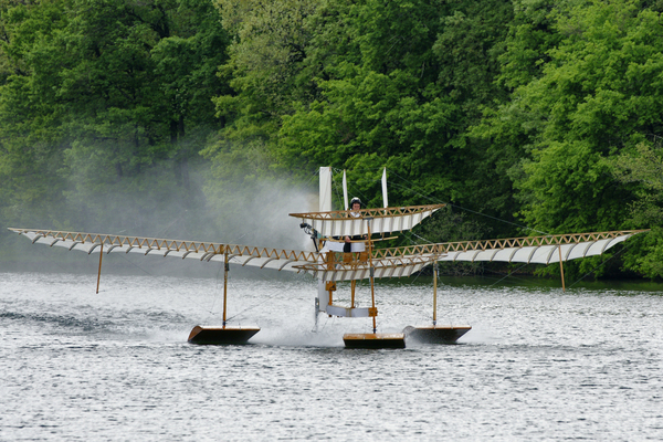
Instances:
[[[322,254],[295,250],[256,248],[200,241],[159,240],[97,233],[9,229],[33,244],[66,248],[82,252],[140,253],[144,255],[224,262],[277,271],[306,272],[323,281],[350,281],[370,277],[370,264],[336,263],[329,269]],[[560,260],[600,255],[634,234],[648,230],[565,235],[525,236],[506,240],[463,241],[377,249],[371,260],[375,277],[402,277],[419,272],[434,261],[501,261],[551,264]],[[102,246],[103,244],[103,246]]]

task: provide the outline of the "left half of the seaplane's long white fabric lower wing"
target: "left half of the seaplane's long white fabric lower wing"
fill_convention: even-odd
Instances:
[[[204,241],[162,240],[101,233],[61,232],[53,230],[9,229],[27,236],[33,244],[56,245],[91,253],[141,253],[199,261],[220,261],[231,264],[299,272],[296,264],[316,263],[318,253],[296,250],[256,248]]]

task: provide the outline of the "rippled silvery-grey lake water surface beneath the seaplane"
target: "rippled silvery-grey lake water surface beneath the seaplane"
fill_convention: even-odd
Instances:
[[[349,350],[370,323],[314,332],[308,277],[231,278],[262,330],[225,347],[187,344],[221,322],[218,277],[95,284],[0,273],[0,440],[663,440],[660,292],[442,285],[459,345]],[[430,281],[376,295],[379,332],[430,322]]]

